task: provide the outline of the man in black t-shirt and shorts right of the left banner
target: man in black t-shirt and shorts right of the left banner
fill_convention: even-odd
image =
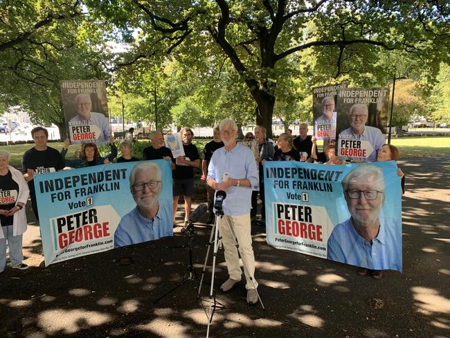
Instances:
[[[180,134],[185,156],[177,157],[177,166],[173,175],[174,225],[176,224],[175,216],[177,215],[178,199],[180,195],[184,196],[184,222],[189,220],[192,195],[194,194],[194,168],[199,168],[200,166],[199,150],[191,143],[194,133],[190,128],[182,127]]]

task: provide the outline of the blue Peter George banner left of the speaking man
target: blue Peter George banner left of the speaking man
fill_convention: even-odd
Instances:
[[[168,161],[64,170],[34,181],[45,265],[173,235]]]

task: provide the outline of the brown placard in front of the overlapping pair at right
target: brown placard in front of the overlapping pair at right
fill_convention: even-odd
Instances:
[[[389,88],[339,89],[336,155],[348,160],[376,161],[386,143]]]

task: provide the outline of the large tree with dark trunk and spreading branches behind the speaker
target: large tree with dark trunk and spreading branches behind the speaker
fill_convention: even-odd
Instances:
[[[334,78],[376,64],[382,51],[401,51],[431,65],[449,57],[447,1],[109,0],[87,1],[114,21],[134,48],[119,64],[171,54],[194,65],[228,59],[270,130],[282,60],[308,49]],[[360,72],[361,73],[361,72]],[[363,75],[364,72],[361,73]],[[270,133],[269,133],[270,134]]]

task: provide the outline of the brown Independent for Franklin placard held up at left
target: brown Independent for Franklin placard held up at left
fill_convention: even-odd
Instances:
[[[109,142],[111,126],[105,80],[62,80],[60,87],[71,143]]]

